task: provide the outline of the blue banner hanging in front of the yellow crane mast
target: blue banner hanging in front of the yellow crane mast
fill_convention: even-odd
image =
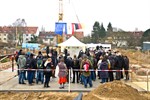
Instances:
[[[62,35],[63,33],[67,34],[67,23],[55,23],[55,34]]]

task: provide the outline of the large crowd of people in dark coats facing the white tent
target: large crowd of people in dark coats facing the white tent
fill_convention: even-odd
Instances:
[[[67,49],[60,54],[51,49],[46,50],[46,55],[43,55],[41,51],[35,55],[20,50],[15,58],[18,65],[19,84],[26,84],[25,80],[28,80],[29,85],[41,82],[46,88],[50,87],[51,78],[58,77],[59,88],[63,89],[69,79],[72,83],[83,84],[85,88],[88,85],[92,87],[93,81],[100,80],[100,83],[105,83],[120,80],[124,78],[123,75],[125,75],[125,80],[129,80],[128,57],[119,51],[105,51],[99,46],[95,50],[89,48],[85,52],[81,50],[73,57]]]

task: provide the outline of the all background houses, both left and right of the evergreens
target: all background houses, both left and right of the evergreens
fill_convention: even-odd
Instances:
[[[38,42],[45,44],[45,45],[57,45],[58,43],[65,41],[72,34],[66,34],[62,36],[58,36],[53,31],[40,31],[36,26],[27,26],[27,27],[10,27],[10,26],[3,26],[0,27],[0,42],[3,43],[15,43],[17,35],[22,33],[22,43],[28,43],[31,41],[33,35],[38,37]],[[120,32],[115,31],[112,34],[107,34],[104,43],[114,44],[117,47],[124,47],[128,46],[129,44],[138,43],[138,41],[142,38],[143,32],[142,31],[128,31],[128,32]],[[83,40],[84,32],[83,31],[76,31],[74,36],[79,39]]]

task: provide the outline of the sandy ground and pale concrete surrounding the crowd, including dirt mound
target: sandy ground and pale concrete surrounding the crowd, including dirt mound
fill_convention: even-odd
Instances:
[[[52,79],[50,88],[43,85],[20,85],[17,82],[17,71],[12,72],[10,64],[1,63],[0,99],[1,100],[150,100],[149,69],[150,55],[148,52],[121,50],[130,59],[130,80],[108,82],[101,84],[93,82],[92,88],[84,88],[79,84],[66,84],[65,89],[59,89],[57,79]],[[137,56],[138,55],[138,56]],[[69,86],[70,85],[70,86]],[[75,99],[76,98],[76,99]]]

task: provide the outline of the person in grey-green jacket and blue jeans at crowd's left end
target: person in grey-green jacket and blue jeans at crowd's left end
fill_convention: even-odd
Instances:
[[[19,67],[19,84],[25,84],[24,82],[24,69],[26,66],[26,58],[25,58],[25,53],[21,52],[21,54],[19,55],[19,58],[17,60],[17,64]]]

